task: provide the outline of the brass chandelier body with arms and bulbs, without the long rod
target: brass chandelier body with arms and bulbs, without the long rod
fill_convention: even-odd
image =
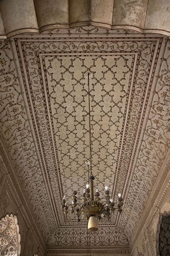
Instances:
[[[122,206],[123,206],[123,198],[121,193],[119,193],[119,198],[117,200],[117,206],[115,207],[115,203],[113,199],[111,199],[109,195],[108,186],[105,186],[105,201],[102,201],[101,198],[99,198],[100,194],[98,189],[96,189],[96,192],[94,193],[94,176],[91,175],[89,177],[89,183],[86,185],[86,188],[83,192],[83,197],[77,198],[77,191],[73,191],[72,194],[72,204],[68,205],[68,203],[65,200],[65,196],[62,200],[62,208],[65,215],[68,214],[68,211],[70,210],[71,215],[75,213],[78,218],[78,222],[82,219],[89,220],[89,226],[92,225],[92,227],[88,227],[89,231],[96,231],[98,227],[96,227],[96,223],[94,218],[95,217],[98,220],[102,218],[111,218],[111,214],[117,209],[118,212],[122,212]],[[82,201],[82,203],[78,201]],[[70,208],[70,209],[69,209]]]

